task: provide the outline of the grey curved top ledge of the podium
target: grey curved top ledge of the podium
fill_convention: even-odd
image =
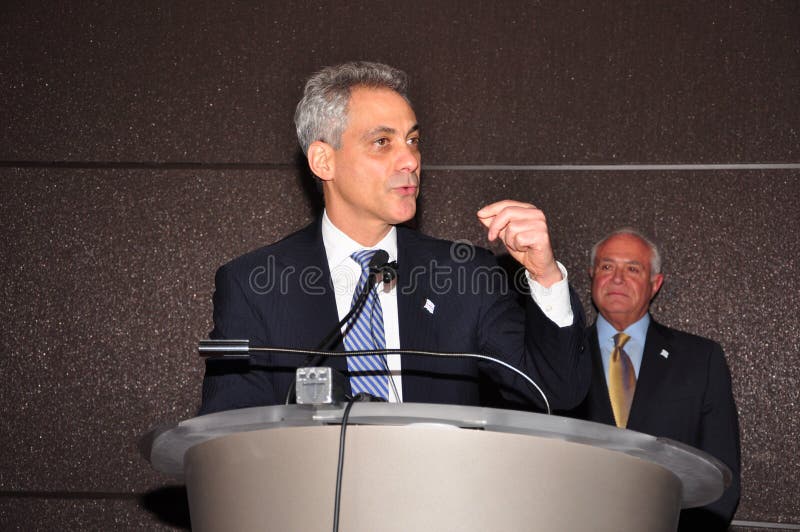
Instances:
[[[191,447],[229,434],[278,427],[341,423],[345,405],[277,405],[243,408],[158,426],[140,442],[142,454],[162,473],[181,478]],[[682,506],[716,500],[731,472],[713,456],[688,445],[610,425],[561,416],[459,405],[355,403],[348,425],[437,424],[522,434],[616,451],[660,465],[683,484]]]

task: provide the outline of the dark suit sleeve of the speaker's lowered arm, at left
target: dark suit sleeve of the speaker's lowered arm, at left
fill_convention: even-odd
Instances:
[[[251,344],[269,345],[264,320],[248,298],[243,278],[231,265],[222,266],[215,277],[214,329],[212,339],[249,339]],[[198,415],[222,410],[276,404],[269,372],[249,361],[206,361],[202,403]]]

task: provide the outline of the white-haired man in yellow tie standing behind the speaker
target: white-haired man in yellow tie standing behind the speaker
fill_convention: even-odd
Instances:
[[[592,248],[592,299],[599,315],[589,329],[594,366],[589,395],[577,416],[625,426],[612,409],[609,367],[614,336],[636,371],[627,428],[677,440],[715,456],[733,472],[722,498],[681,512],[679,530],[726,530],[739,503],[739,425],[731,378],[716,342],[670,329],[650,316],[661,288],[658,248],[634,230],[622,229]],[[624,415],[623,415],[624,417]]]

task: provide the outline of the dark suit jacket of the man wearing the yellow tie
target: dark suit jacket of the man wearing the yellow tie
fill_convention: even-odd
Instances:
[[[571,415],[614,425],[596,326],[588,329],[586,342],[592,384]],[[733,481],[722,498],[682,511],[679,526],[685,531],[726,530],[739,503],[739,423],[720,345],[651,319],[627,428],[686,443],[731,469]]]

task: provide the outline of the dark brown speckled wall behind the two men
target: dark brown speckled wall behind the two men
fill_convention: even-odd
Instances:
[[[662,244],[654,315],[733,373],[739,528],[800,523],[800,3],[4,2],[0,35],[0,528],[186,526],[137,438],[198,406],[215,269],[312,217],[294,105],[350,59],[412,77],[423,230],[531,201],[587,306],[603,233]]]

